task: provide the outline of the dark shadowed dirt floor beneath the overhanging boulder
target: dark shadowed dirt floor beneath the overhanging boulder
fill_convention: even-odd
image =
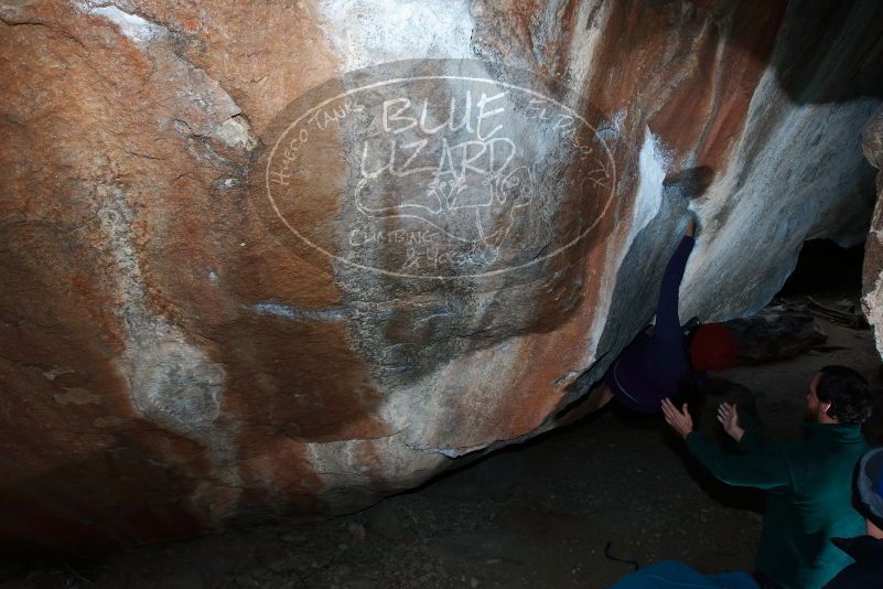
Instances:
[[[720,376],[773,437],[799,431],[811,375],[846,364],[881,389],[871,332],[818,319],[829,339],[797,358]],[[883,411],[877,415],[883,415]],[[877,420],[879,421],[879,420]],[[774,426],[774,427],[772,427]],[[880,442],[880,424],[870,437]],[[682,560],[750,569],[763,497],[710,480],[660,417],[607,407],[424,488],[310,526],[286,522],[89,559],[8,561],[0,588],[600,588],[634,567]]]

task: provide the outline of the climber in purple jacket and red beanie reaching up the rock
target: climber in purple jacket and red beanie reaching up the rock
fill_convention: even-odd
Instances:
[[[696,219],[690,218],[663,276],[653,333],[639,333],[614,361],[596,408],[615,397],[635,411],[657,413],[663,399],[700,387],[707,371],[724,371],[735,364],[736,342],[729,329],[720,323],[700,325],[688,345],[678,319],[678,291],[694,233]]]

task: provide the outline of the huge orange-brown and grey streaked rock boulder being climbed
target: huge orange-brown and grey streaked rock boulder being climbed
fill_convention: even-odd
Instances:
[[[18,546],[355,510],[572,419],[652,319],[688,208],[685,319],[751,314],[805,239],[866,234],[873,1],[0,19]]]

